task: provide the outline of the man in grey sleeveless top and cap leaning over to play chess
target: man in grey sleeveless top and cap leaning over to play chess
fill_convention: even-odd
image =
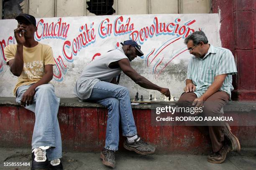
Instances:
[[[121,71],[141,87],[158,90],[170,97],[168,88],[159,87],[139,75],[130,65],[137,56],[142,56],[141,47],[133,40],[121,43],[123,47],[97,57],[84,68],[76,82],[74,94],[79,101],[92,101],[108,108],[105,147],[100,153],[104,165],[115,167],[115,151],[119,143],[119,122],[125,136],[123,146],[142,155],[154,153],[155,148],[138,135],[133,119],[131,99],[126,87],[116,85],[116,76]]]

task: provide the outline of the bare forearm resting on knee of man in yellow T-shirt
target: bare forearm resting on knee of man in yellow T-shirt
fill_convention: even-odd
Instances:
[[[35,84],[31,85],[28,88],[28,90],[23,94],[23,96],[20,100],[20,105],[26,106],[26,105],[32,104],[33,97],[36,93],[36,87],[38,87],[39,85],[47,84],[48,82],[51,81],[51,79],[53,77],[53,65],[45,65],[44,72],[45,72],[45,75],[41,78],[41,80],[39,80]]]

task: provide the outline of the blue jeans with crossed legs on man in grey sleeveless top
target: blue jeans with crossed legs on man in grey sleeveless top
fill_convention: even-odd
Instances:
[[[123,136],[130,137],[137,134],[130,94],[126,87],[99,81],[93,87],[92,94],[87,101],[100,103],[108,109],[106,149],[118,150],[119,122]]]

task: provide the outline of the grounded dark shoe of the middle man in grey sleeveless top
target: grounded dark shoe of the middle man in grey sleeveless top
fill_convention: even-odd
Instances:
[[[100,158],[102,159],[102,163],[111,168],[115,168],[115,151],[103,149],[100,153]]]

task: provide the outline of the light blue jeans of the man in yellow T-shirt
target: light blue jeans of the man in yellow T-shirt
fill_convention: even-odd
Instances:
[[[31,85],[20,86],[17,90],[16,102],[20,100]],[[54,93],[52,84],[36,87],[33,103],[25,108],[35,113],[35,125],[32,137],[32,150],[40,146],[51,146],[46,150],[48,160],[62,157],[61,133],[57,114],[59,110],[59,97]]]

